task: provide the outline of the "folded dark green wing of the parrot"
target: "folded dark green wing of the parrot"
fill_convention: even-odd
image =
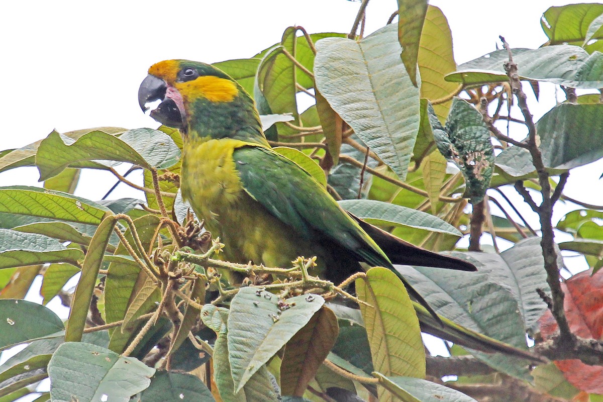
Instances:
[[[391,267],[373,239],[296,163],[259,146],[237,148],[233,159],[245,192],[297,233],[325,236],[359,261]]]

